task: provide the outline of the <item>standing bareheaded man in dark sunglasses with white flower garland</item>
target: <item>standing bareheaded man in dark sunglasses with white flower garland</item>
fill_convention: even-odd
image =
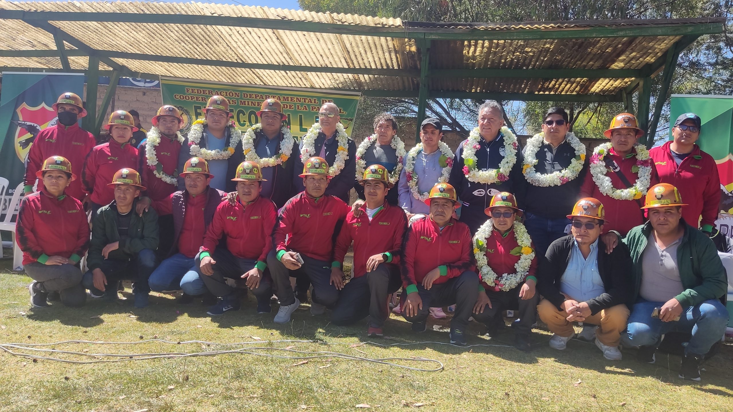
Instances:
[[[564,108],[551,107],[542,121],[542,133],[531,137],[523,152],[524,224],[540,256],[567,233],[570,221],[565,215],[578,199],[588,169],[586,147],[570,133],[568,119]]]

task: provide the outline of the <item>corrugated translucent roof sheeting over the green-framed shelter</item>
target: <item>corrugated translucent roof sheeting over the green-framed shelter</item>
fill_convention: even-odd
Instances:
[[[390,28],[435,30],[569,29],[591,26],[668,25],[670,21],[573,21],[526,23],[421,23],[397,18],[317,13],[208,3],[152,3],[137,1],[10,2],[0,0],[0,10],[47,12],[106,12],[167,14],[158,23],[111,23],[105,21],[51,21],[53,26],[97,51],[115,51],[156,56],[174,56],[224,62],[402,69],[419,73],[420,54],[415,40],[399,37],[295,32],[177,24],[176,15],[206,15],[270,18]],[[674,22],[673,22],[674,23]],[[20,20],[0,19],[0,50],[52,51],[54,38]],[[550,40],[432,40],[431,69],[638,69],[660,59],[679,36],[567,38]],[[73,48],[67,44],[67,48]],[[134,73],[203,78],[214,81],[324,89],[380,89],[414,91],[419,79],[409,76],[376,76],[350,73],[306,73],[261,70],[180,62],[155,62],[112,57]],[[88,59],[70,57],[75,70],[85,70]],[[0,67],[58,69],[58,57],[0,57]],[[100,67],[108,69],[106,65]],[[433,91],[516,92],[611,95],[633,78],[430,78]]]

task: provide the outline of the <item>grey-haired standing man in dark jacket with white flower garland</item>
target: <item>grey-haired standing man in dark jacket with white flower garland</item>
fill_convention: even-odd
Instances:
[[[479,106],[479,125],[455,152],[449,183],[461,202],[460,221],[475,233],[485,221],[491,197],[506,191],[522,204],[526,181],[517,137],[504,125],[504,108],[496,100]]]

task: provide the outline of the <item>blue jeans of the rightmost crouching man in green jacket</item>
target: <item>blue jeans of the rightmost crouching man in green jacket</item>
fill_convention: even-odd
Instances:
[[[677,322],[662,322],[652,317],[654,308],[663,305],[664,302],[637,301],[631,309],[626,331],[621,334],[621,342],[625,346],[656,346],[663,334],[687,332],[692,333],[692,338],[685,347],[685,356],[704,355],[726,332],[728,309],[717,299],[682,309]]]

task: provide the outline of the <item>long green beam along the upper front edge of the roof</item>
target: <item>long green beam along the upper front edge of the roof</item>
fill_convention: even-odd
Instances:
[[[0,18],[23,21],[87,21],[110,23],[161,23],[196,24],[203,26],[251,27],[255,29],[292,30],[328,34],[353,34],[359,36],[425,38],[430,40],[544,40],[588,37],[639,37],[704,35],[723,32],[722,18],[702,18],[699,23],[674,23],[638,26],[572,27],[559,29],[443,29],[406,26],[385,27],[314,21],[289,21],[274,18],[230,17],[218,15],[172,15],[119,12],[29,12],[25,10],[0,10]],[[604,22],[605,23],[605,22]]]

